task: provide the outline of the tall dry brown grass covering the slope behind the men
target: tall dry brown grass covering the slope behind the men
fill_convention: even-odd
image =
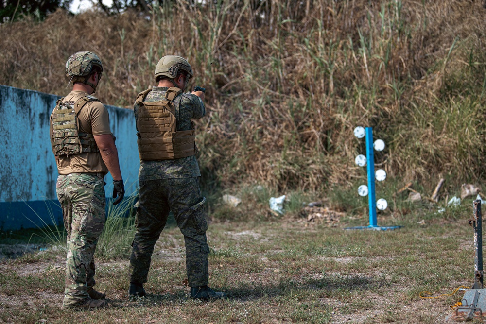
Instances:
[[[64,63],[97,52],[97,95],[130,107],[158,59],[179,54],[205,86],[198,122],[206,183],[280,191],[350,186],[352,135],[372,126],[398,182],[432,191],[485,180],[485,11],[478,1],[183,1],[106,17],[59,11],[0,25],[0,83],[65,94]],[[121,152],[121,155],[128,154]],[[455,187],[454,187],[455,186]]]

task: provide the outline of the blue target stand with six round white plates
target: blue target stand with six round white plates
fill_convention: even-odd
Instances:
[[[378,152],[383,151],[385,148],[385,142],[382,139],[377,139],[373,142],[373,128],[366,127],[364,129],[358,126],[354,129],[354,136],[357,138],[363,138],[366,136],[366,156],[360,154],[356,156],[355,163],[360,166],[366,166],[366,172],[368,174],[368,186],[361,185],[358,187],[358,194],[362,197],[368,196],[368,208],[369,208],[369,225],[368,226],[356,226],[346,227],[345,229],[372,229],[377,231],[394,230],[401,226],[378,226],[376,222],[376,209],[385,210],[388,207],[388,202],[380,198],[376,200],[375,193],[375,157],[373,150]],[[383,181],[386,178],[386,172],[382,169],[376,171],[376,180]]]

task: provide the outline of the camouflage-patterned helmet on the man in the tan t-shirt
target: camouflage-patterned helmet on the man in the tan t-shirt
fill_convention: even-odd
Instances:
[[[100,72],[103,72],[103,64],[101,64],[98,55],[92,52],[81,51],[76,52],[69,57],[64,72],[66,73],[66,76],[70,78],[72,84],[75,82],[82,82],[90,85],[93,88],[94,93],[96,91],[96,85],[88,82],[89,77],[94,72],[94,67],[100,68]]]

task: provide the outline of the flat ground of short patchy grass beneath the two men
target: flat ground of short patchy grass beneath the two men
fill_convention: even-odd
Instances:
[[[238,207],[240,208],[240,207]],[[244,208],[244,207],[243,207]],[[472,208],[420,207],[379,215],[394,231],[343,215],[336,227],[284,217],[209,225],[210,286],[227,299],[192,301],[182,235],[174,225],[154,252],[149,297],[127,298],[128,260],[99,259],[97,289],[108,307],[61,309],[64,256],[48,250],[0,264],[0,323],[442,323],[473,278]]]

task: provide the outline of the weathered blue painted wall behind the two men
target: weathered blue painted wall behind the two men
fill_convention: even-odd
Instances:
[[[62,222],[49,116],[58,96],[0,85],[0,228],[13,230]],[[106,106],[117,137],[126,196],[137,191],[139,154],[133,110]],[[105,177],[106,195],[113,192]]]

